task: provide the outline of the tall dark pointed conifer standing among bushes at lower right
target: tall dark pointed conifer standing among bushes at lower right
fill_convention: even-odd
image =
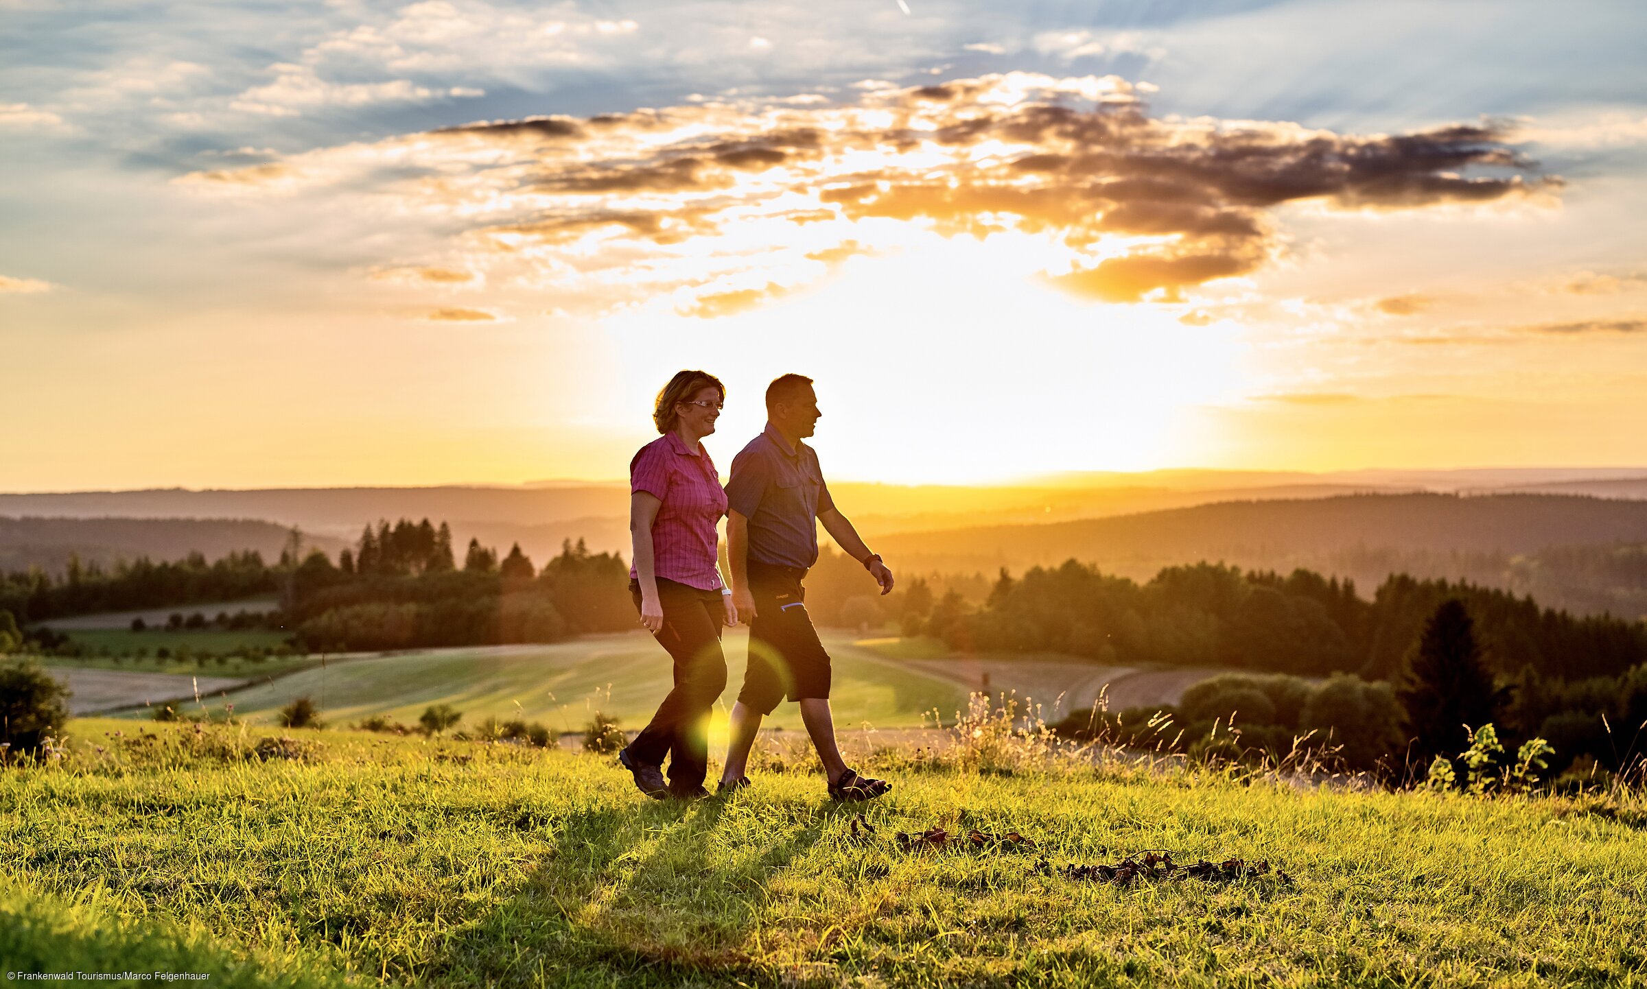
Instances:
[[[1469,732],[1497,716],[1500,694],[1482,662],[1476,622],[1458,597],[1443,601],[1425,622],[1397,683],[1413,737],[1410,760],[1418,767],[1436,755],[1456,757],[1469,747]]]

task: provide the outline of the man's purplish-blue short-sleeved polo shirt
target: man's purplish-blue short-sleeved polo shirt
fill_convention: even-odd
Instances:
[[[731,461],[726,505],[749,520],[749,560],[774,566],[819,561],[819,512],[835,502],[824,484],[819,454],[805,443],[791,448],[772,423]]]

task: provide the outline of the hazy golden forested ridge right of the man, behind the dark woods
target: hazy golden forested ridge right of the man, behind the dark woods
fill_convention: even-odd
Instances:
[[[1138,581],[1189,560],[1332,573],[1466,579],[1584,614],[1647,615],[1647,500],[1583,495],[1364,494],[1219,502],[1046,525],[891,533],[894,566],[985,571],[1075,558]]]

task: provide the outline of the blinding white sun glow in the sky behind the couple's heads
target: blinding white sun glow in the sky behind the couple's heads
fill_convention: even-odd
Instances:
[[[1186,327],[1164,306],[1097,304],[1044,278],[1047,237],[911,237],[824,283],[703,321],[659,301],[606,323],[623,408],[644,416],[680,367],[728,383],[710,451],[721,469],[764,420],[766,382],[817,378],[815,446],[832,476],[1003,481],[1044,471],[1192,462],[1196,411],[1243,393],[1234,324]],[[618,423],[614,421],[614,426]]]

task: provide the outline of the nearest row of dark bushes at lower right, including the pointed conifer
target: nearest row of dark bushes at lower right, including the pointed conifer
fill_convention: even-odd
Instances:
[[[1398,584],[1410,591],[1408,581]],[[1543,754],[1547,765],[1535,768],[1550,773],[1583,775],[1584,767],[1619,772],[1644,759],[1647,665],[1571,681],[1543,676],[1532,665],[1505,675],[1472,611],[1456,594],[1436,604],[1388,681],[1342,671],[1326,681],[1222,675],[1184,691],[1176,706],[1075,716],[1061,731],[1191,754],[1262,752],[1271,759],[1283,759],[1303,739],[1351,768],[1407,780],[1433,777],[1436,765],[1448,780],[1482,772],[1466,765],[1463,752],[1489,724],[1507,745],[1486,767],[1489,775],[1507,768],[1522,745]]]

